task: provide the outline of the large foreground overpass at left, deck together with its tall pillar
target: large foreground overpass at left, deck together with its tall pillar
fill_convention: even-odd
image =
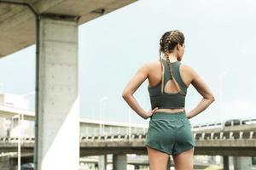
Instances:
[[[0,58],[36,44],[36,169],[79,169],[78,27],[133,2],[0,0]]]

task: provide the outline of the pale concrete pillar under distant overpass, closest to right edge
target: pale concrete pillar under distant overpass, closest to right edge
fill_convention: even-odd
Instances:
[[[251,156],[234,156],[234,170],[251,170],[252,167]]]

